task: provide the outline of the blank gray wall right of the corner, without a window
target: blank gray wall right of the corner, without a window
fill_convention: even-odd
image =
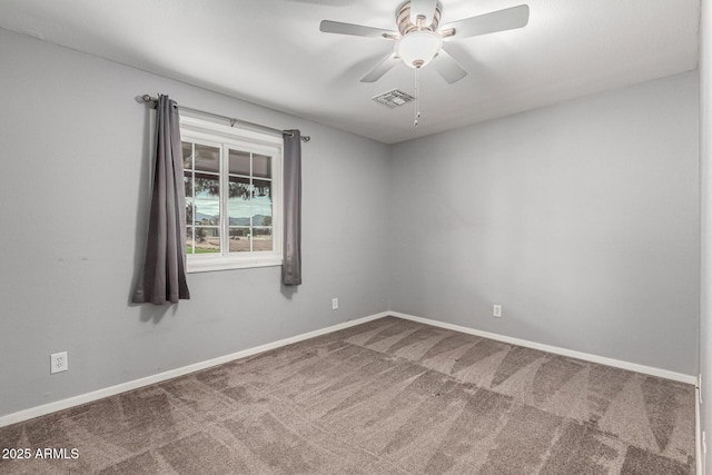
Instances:
[[[698,86],[690,72],[395,146],[390,308],[696,374]]]

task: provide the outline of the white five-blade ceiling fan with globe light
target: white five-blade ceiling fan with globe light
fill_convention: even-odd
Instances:
[[[326,33],[395,41],[394,51],[368,72],[362,82],[377,81],[402,60],[415,69],[423,68],[432,61],[433,69],[452,85],[467,76],[467,71],[443,49],[443,39],[469,38],[513,30],[525,27],[530,19],[528,6],[521,4],[454,21],[438,30],[442,13],[443,6],[437,0],[406,0],[396,9],[398,31],[329,20],[322,21],[319,30]]]

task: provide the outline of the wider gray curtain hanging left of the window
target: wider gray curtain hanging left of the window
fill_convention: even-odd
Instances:
[[[186,197],[178,108],[159,96],[156,166],[146,257],[134,303],[174,304],[189,299],[186,281]]]

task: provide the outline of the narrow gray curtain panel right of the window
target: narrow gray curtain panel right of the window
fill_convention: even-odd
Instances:
[[[284,165],[284,263],[281,283],[301,284],[301,133],[285,130]]]

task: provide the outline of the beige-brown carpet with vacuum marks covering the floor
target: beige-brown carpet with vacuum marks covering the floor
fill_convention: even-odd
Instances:
[[[387,317],[0,428],[2,474],[694,473],[694,388]]]

